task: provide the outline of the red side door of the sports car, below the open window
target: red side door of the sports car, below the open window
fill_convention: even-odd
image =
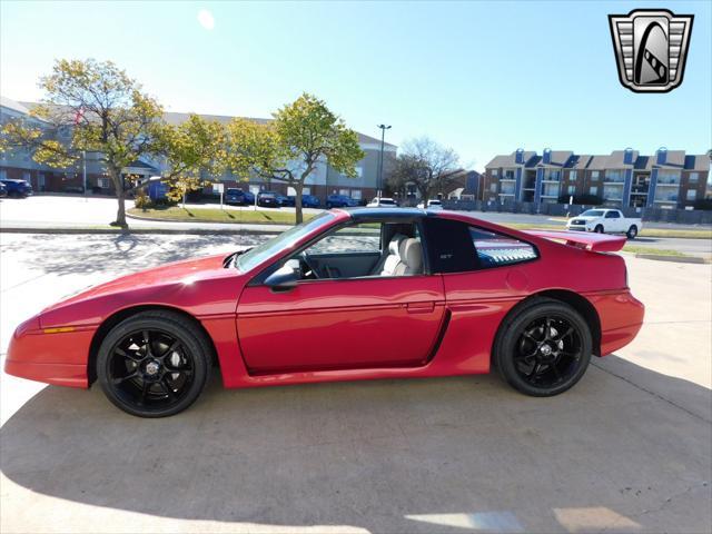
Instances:
[[[338,265],[349,257],[358,264],[372,251],[380,256],[385,247],[365,250],[366,240],[328,254],[342,256]],[[441,276],[342,273],[301,280],[289,291],[249,284],[238,303],[237,332],[250,373],[412,367],[431,356],[444,309]]]

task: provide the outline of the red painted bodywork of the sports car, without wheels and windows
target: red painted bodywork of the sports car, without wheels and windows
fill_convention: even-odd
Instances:
[[[612,249],[606,247],[617,246],[619,238],[576,235],[566,245],[556,243],[558,233],[516,231],[461,212],[429,216],[528,241],[538,258],[461,274],[305,280],[289,293],[248,285],[274,261],[350,218],[334,210],[322,227],[249,273],[224,268],[221,256],[179,261],[50,306],[18,327],[6,372],[87,387],[97,328],[137,306],[171,308],[199,320],[216,348],[226,387],[487,373],[502,320],[524,298],[542,291],[573,291],[593,305],[603,355],[637,334],[644,310],[626,287],[624,260],[590,250]],[[73,329],[43,332],[56,327]]]

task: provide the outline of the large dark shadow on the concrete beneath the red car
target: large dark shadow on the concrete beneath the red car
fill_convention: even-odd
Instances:
[[[165,419],[49,386],[0,429],[3,475],[31,491],[6,486],[3,521],[39,494],[265,532],[703,532],[710,398],[615,356],[553,398],[491,375],[233,390],[216,375]]]

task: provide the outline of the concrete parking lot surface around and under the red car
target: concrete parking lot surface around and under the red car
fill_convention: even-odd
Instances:
[[[257,239],[0,234],[2,359],[63,295]],[[0,531],[710,532],[712,266],[626,263],[641,334],[554,398],[494,375],[224,390],[216,374],[148,421],[3,374]]]

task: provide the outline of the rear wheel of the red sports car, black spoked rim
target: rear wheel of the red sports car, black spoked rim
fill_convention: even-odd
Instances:
[[[592,347],[591,328],[578,312],[560,300],[536,298],[504,320],[492,359],[515,389],[534,397],[551,397],[581,379]]]

